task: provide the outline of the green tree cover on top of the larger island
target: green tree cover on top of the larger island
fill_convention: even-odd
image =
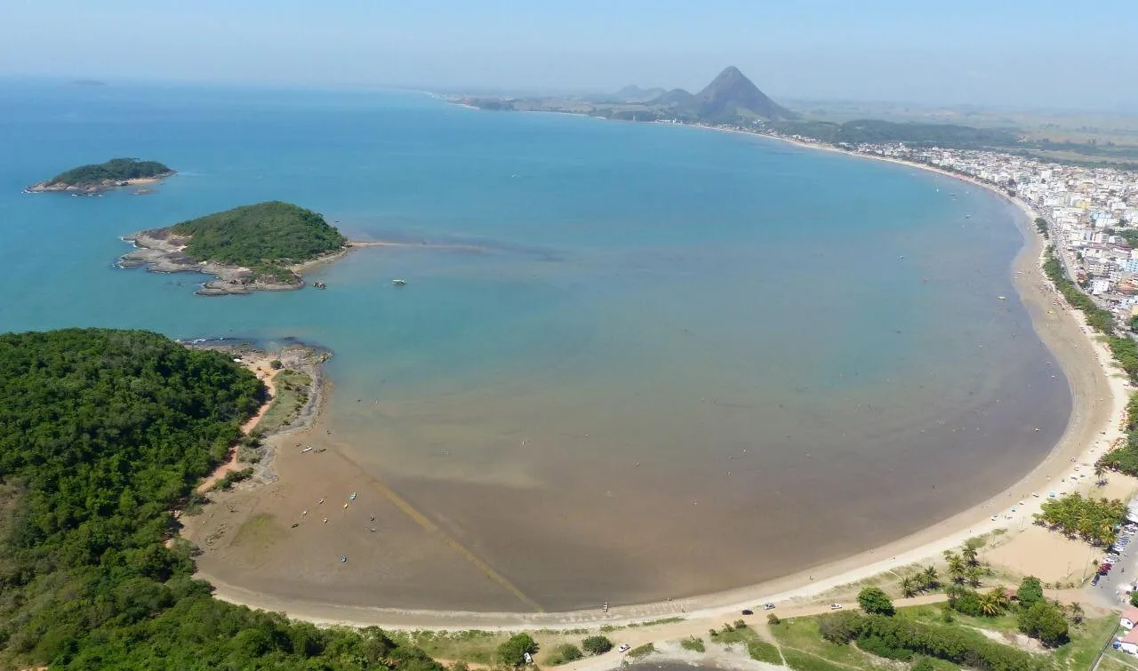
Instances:
[[[257,275],[283,282],[296,279],[287,266],[347,243],[324,217],[277,200],[174,224],[171,231],[191,235],[185,254],[197,260],[245,266]]]

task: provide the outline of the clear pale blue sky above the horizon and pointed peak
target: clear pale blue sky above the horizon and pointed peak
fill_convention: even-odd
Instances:
[[[1138,109],[1138,0],[51,0],[0,74]]]

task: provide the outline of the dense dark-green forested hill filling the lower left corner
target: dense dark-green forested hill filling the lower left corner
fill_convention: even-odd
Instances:
[[[377,629],[218,602],[165,546],[264,394],[155,333],[0,334],[0,668],[442,671]]]

